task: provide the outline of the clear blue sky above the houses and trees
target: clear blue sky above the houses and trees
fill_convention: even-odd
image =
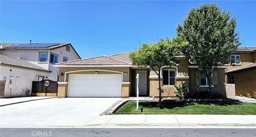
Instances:
[[[0,42],[70,42],[82,58],[130,52],[174,37],[204,3],[230,11],[242,46],[256,46],[256,1],[0,1]]]

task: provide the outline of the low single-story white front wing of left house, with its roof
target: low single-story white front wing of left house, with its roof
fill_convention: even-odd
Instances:
[[[26,96],[32,87],[32,81],[40,76],[51,75],[51,71],[18,57],[0,54],[0,97]]]

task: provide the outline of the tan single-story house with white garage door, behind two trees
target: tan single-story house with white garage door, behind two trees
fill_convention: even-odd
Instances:
[[[58,97],[135,97],[136,75],[139,74],[139,96],[158,97],[158,76],[150,67],[133,66],[130,53],[99,56],[58,63],[60,68]],[[178,66],[161,68],[163,97],[175,97],[174,85],[187,82],[190,95],[207,91],[207,78],[198,66],[180,54]],[[214,92],[227,96],[225,69],[218,66],[212,75]]]

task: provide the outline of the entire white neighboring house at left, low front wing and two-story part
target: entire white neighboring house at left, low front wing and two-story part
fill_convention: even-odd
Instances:
[[[81,59],[71,44],[1,44],[0,97],[24,96],[33,81],[58,81],[55,63]]]

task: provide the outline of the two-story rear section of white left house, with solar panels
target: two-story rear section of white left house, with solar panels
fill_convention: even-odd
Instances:
[[[52,71],[50,75],[40,79],[58,81],[59,68],[55,63],[81,59],[71,44],[1,44],[1,54],[19,57],[33,64]]]

